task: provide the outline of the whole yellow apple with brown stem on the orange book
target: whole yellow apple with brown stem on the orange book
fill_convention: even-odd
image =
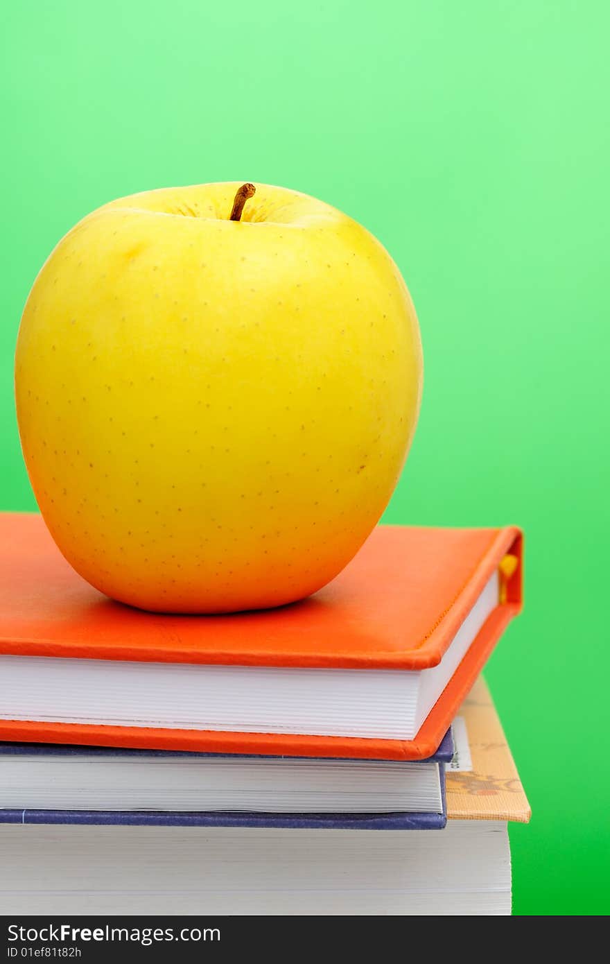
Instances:
[[[21,320],[42,516],[81,576],[145,609],[320,589],[382,515],[417,420],[417,319],[383,246],[322,201],[238,188],[94,211]]]

